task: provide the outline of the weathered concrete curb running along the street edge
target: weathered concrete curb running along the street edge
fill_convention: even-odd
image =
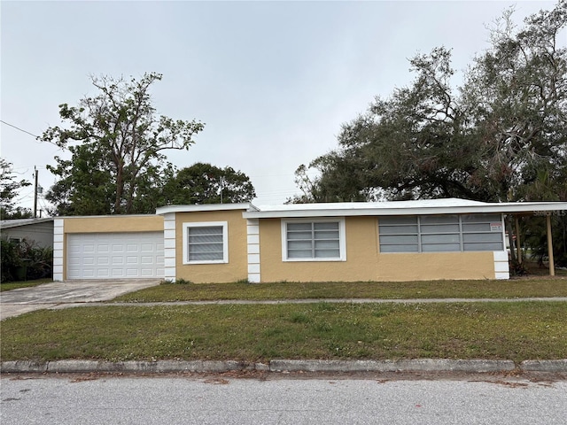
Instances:
[[[99,361],[55,360],[39,363],[30,360],[3,361],[0,373],[222,373],[230,371],[263,372],[555,372],[567,373],[567,359],[512,360],[483,359],[408,359],[408,360],[294,360],[274,359],[269,364],[236,360],[158,360]]]

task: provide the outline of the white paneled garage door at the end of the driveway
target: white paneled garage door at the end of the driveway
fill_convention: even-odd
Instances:
[[[163,276],[163,232],[67,236],[67,279]]]

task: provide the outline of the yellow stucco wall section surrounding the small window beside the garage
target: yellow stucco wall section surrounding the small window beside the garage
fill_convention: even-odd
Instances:
[[[194,283],[237,282],[248,277],[246,220],[243,210],[176,213],[175,274]],[[223,264],[183,264],[183,223],[227,221],[229,262]]]

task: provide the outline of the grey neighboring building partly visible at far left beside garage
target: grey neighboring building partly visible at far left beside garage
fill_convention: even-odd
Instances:
[[[0,221],[0,232],[6,239],[34,242],[42,248],[53,247],[53,218]]]

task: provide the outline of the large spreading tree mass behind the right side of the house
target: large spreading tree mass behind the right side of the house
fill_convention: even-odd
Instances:
[[[450,50],[411,59],[416,80],[344,124],[338,149],[309,164],[318,177],[306,181],[300,166],[304,195],[290,201],[522,200],[542,170],[554,187],[564,184],[567,50],[557,41],[567,2],[525,19],[520,31],[510,16],[496,22],[460,88],[451,84]]]

